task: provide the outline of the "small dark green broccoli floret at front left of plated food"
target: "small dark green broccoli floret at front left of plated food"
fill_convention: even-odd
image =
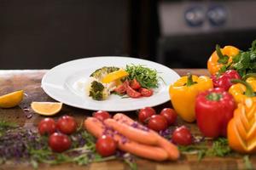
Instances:
[[[102,85],[101,82],[93,81],[90,83],[89,96],[92,99],[104,100],[104,99],[107,99],[108,93],[106,88]]]

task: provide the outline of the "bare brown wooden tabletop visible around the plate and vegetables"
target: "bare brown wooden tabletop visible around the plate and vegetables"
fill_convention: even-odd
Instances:
[[[191,72],[195,75],[208,75],[206,69],[174,69],[180,76],[186,75]],[[24,71],[0,71],[0,95],[13,92],[15,90],[23,89],[25,90],[27,96],[23,99],[21,106],[29,106],[32,101],[54,101],[41,88],[41,79],[44,76],[46,70],[24,70]],[[159,105],[155,109],[160,111],[163,107],[171,107],[171,102],[166,102],[166,104]],[[78,122],[82,122],[86,116],[91,116],[92,111],[86,111],[82,109],[77,109],[72,106],[64,105],[61,112],[54,116],[57,119],[62,115],[72,115],[76,118]],[[131,116],[135,115],[135,112],[129,112]],[[37,127],[38,122],[44,116],[39,116],[38,114],[27,114],[20,107],[15,107],[12,109],[0,109],[0,119],[10,122],[17,122],[24,127]],[[185,123],[178,120],[179,123],[188,126],[192,133],[199,135],[198,128],[195,123]],[[251,161],[253,167],[256,168],[256,157],[251,156]],[[232,157],[206,157],[202,161],[197,160],[197,156],[182,156],[178,161],[148,161],[144,159],[137,159],[138,169],[244,169],[245,165],[242,157],[232,158]],[[49,166],[41,164],[39,169],[129,169],[122,161],[105,161],[100,163],[93,163],[88,166],[79,167],[75,164],[61,164],[57,166]],[[0,170],[5,169],[32,169],[29,164],[19,162],[7,162],[0,166]]]

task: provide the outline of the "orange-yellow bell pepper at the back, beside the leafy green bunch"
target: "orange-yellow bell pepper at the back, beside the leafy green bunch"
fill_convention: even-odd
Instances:
[[[230,65],[234,56],[239,53],[239,49],[234,46],[220,48],[216,45],[216,50],[207,61],[207,69],[211,75],[215,75],[224,65]]]

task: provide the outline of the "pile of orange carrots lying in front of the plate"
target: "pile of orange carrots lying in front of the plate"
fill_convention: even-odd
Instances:
[[[130,127],[122,129],[119,127],[117,128],[113,122],[125,124],[125,127]],[[115,131],[114,128],[108,127],[107,123],[119,129],[119,132],[121,133]],[[101,138],[102,135],[113,136],[113,139],[117,141],[119,150],[130,152],[136,156],[142,156],[154,161],[164,161],[167,159],[177,160],[179,157],[179,152],[174,144],[160,137],[158,133],[149,130],[147,127],[144,127],[137,122],[134,122],[131,120],[131,118],[125,116],[124,114],[119,113],[113,116],[113,119],[106,119],[104,122],[101,122],[94,117],[88,117],[84,120],[84,127],[88,132],[96,136],[96,138]],[[135,136],[136,133],[131,134],[134,131],[138,132],[137,136]],[[156,144],[143,144],[147,141],[143,141],[143,137],[139,135],[142,133],[145,136],[152,136],[152,138],[156,140]],[[137,140],[143,141],[143,143],[139,143]]]

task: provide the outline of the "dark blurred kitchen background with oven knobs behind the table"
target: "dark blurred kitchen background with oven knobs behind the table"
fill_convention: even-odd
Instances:
[[[0,0],[0,69],[102,55],[206,68],[216,43],[254,39],[255,0]]]

